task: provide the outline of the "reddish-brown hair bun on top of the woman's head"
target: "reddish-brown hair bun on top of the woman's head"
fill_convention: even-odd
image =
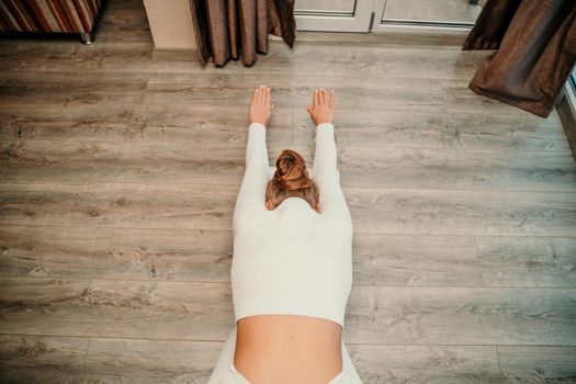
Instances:
[[[278,157],[276,170],[272,182],[279,189],[289,191],[310,188],[313,185],[304,158],[292,149],[284,149]]]

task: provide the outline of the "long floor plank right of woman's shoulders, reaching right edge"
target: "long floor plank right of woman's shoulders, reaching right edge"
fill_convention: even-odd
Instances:
[[[359,234],[568,236],[575,193],[345,188]]]

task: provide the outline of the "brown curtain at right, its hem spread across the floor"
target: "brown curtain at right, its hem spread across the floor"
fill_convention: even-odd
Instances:
[[[547,117],[576,60],[576,0],[488,0],[462,49],[488,55],[468,87]]]

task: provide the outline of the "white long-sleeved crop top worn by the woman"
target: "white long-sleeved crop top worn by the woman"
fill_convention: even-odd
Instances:
[[[352,218],[340,188],[334,125],[316,126],[310,177],[320,213],[301,197],[266,207],[266,127],[248,127],[246,171],[233,216],[230,269],[235,321],[255,315],[301,315],[345,325],[352,287]]]

